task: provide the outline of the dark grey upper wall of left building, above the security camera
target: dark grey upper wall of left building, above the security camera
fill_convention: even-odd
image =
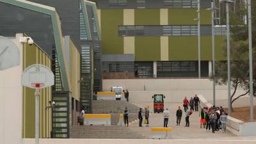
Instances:
[[[15,36],[15,33],[31,36],[36,44],[52,56],[54,35],[50,15],[0,3],[0,35]]]

